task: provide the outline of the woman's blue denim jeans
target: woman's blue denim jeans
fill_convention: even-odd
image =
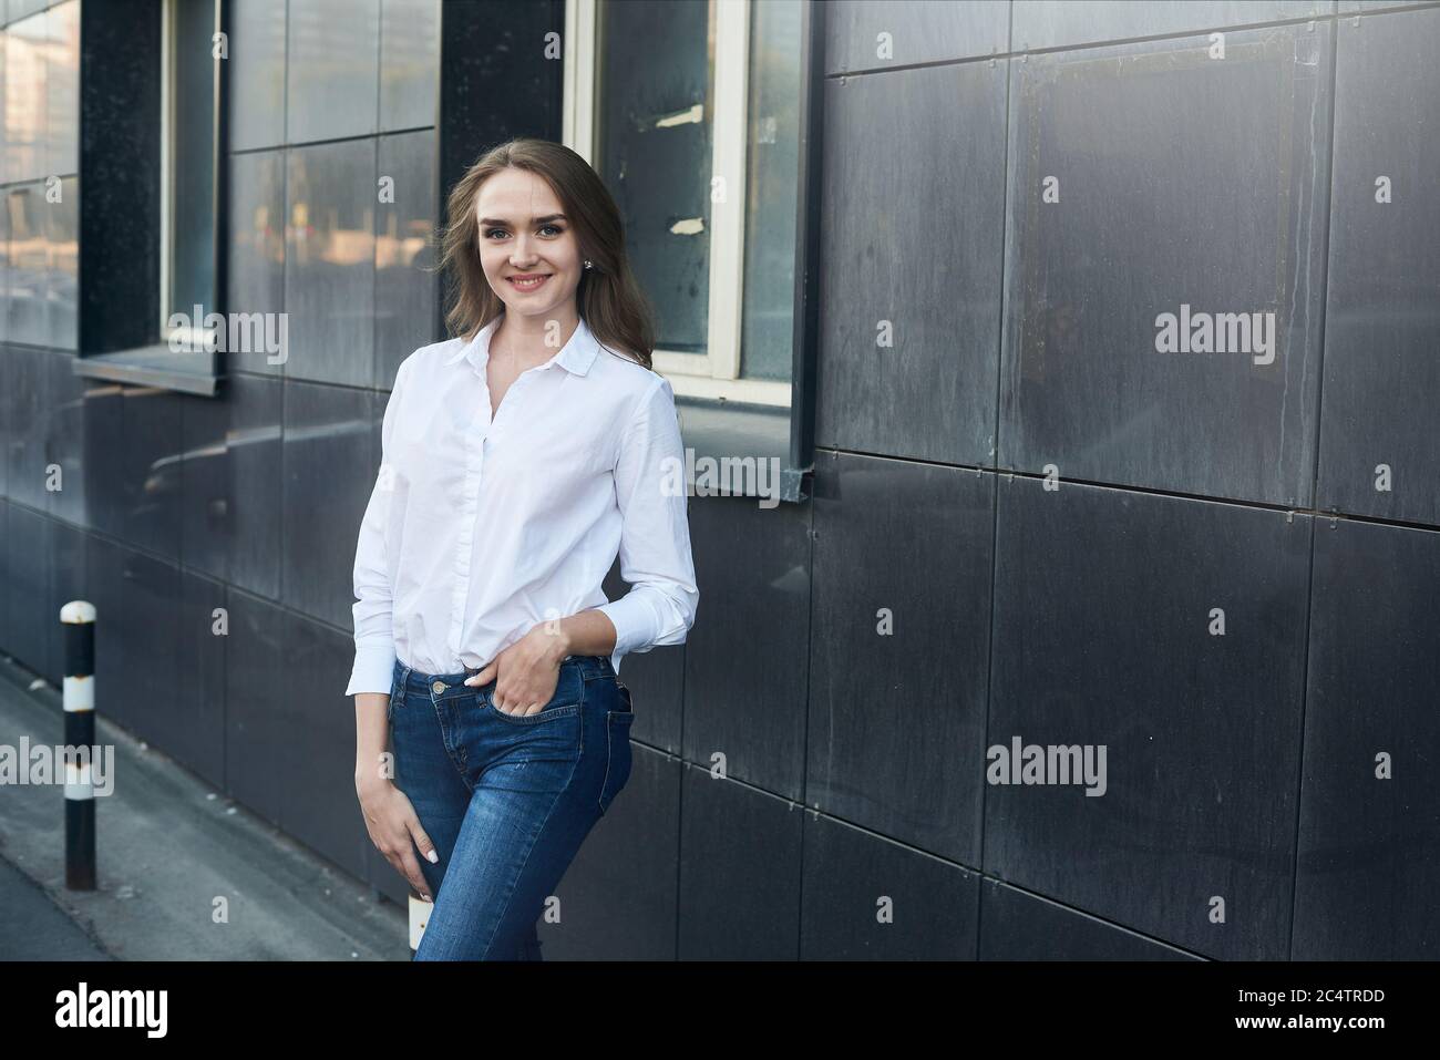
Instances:
[[[566,657],[527,717],[468,675],[395,664],[395,785],[439,855],[416,851],[435,907],[415,959],[539,961],[544,902],[629,779],[631,694],[606,655]]]

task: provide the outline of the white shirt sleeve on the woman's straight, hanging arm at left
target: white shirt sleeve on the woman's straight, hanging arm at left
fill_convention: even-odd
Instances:
[[[351,606],[356,660],[346,696],[366,691],[389,693],[395,673],[390,565],[384,550],[384,529],[390,517],[390,498],[395,494],[390,439],[400,406],[405,369],[406,363],[402,363],[384,406],[384,421],[380,425],[380,472],[376,475],[374,490],[370,491],[370,503],[366,506],[364,518],[360,520],[360,537],[356,542],[356,602]]]

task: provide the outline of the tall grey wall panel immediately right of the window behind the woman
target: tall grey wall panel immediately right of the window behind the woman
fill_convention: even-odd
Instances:
[[[825,94],[816,444],[991,464],[1005,63]]]

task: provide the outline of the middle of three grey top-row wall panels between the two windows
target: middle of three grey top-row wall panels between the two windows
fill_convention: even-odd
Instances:
[[[305,0],[287,12],[285,143],[374,134],[380,0]]]

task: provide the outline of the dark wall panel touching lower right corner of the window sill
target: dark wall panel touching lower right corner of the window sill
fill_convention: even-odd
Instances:
[[[989,474],[816,459],[805,804],[969,866],[994,506]]]

